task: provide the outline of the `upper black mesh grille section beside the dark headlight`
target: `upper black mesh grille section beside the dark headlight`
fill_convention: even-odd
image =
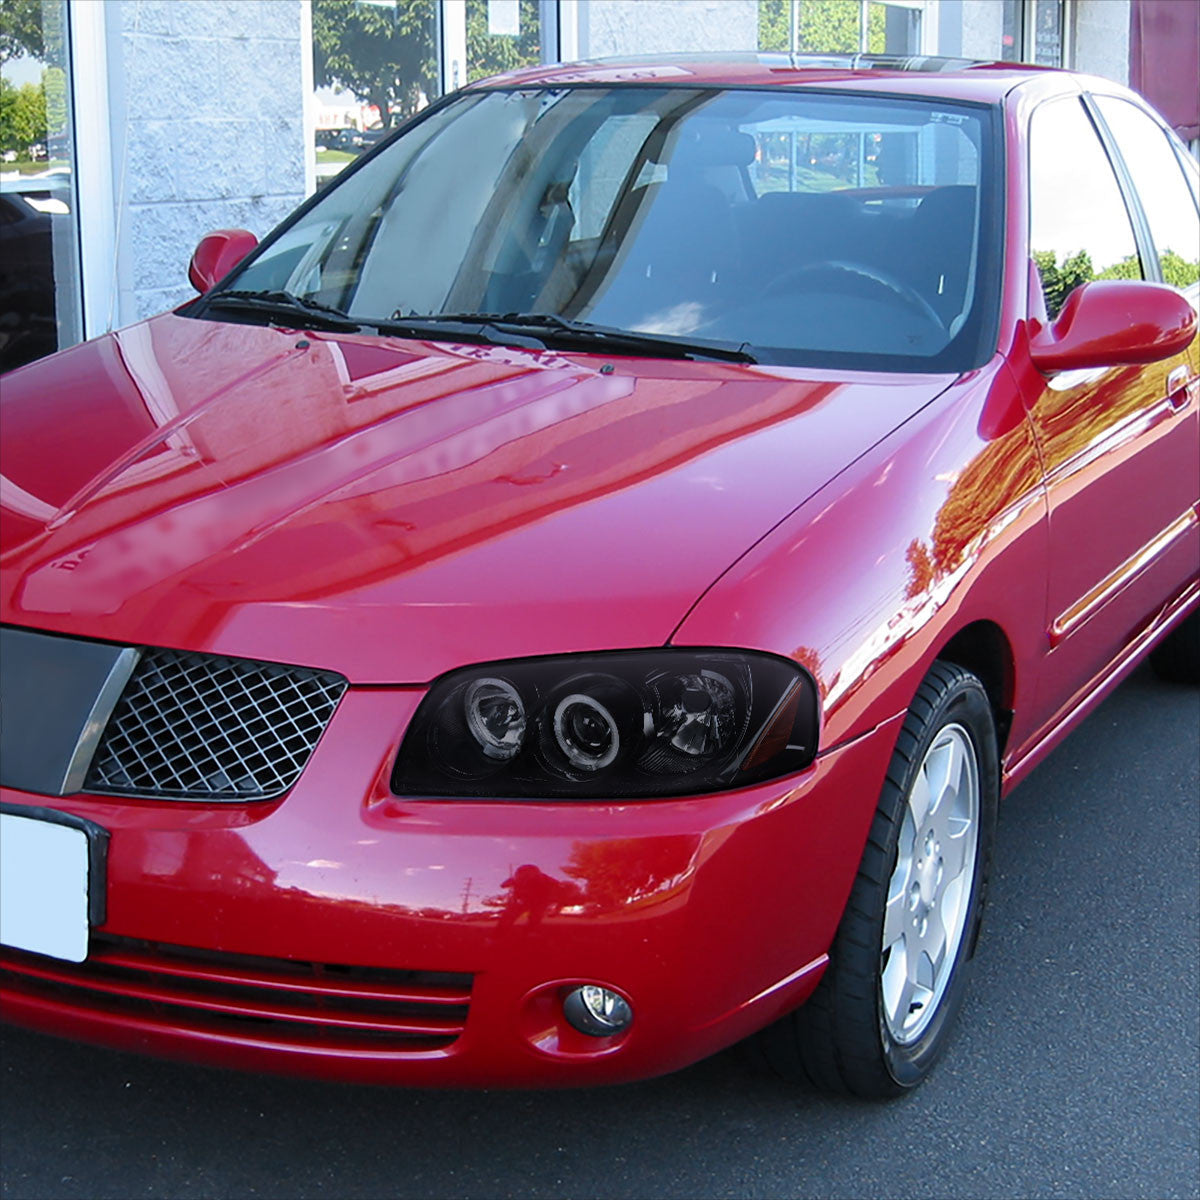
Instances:
[[[299,778],[346,686],[332,671],[145,650],[84,788],[190,800],[281,796]]]

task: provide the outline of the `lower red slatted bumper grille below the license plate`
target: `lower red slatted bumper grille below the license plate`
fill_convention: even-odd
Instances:
[[[466,1026],[472,982],[108,936],[84,962],[0,950],[0,984],[16,994],[257,1044],[440,1050]]]

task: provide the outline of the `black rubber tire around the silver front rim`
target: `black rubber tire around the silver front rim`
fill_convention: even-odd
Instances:
[[[961,923],[953,953],[944,959],[947,973],[936,976],[943,980],[940,990],[928,1012],[911,1003],[902,1009],[917,1016],[905,1018],[916,1022],[912,1036],[898,1038],[889,1028],[883,1000],[884,908],[899,859],[907,798],[940,736],[942,744],[949,738],[961,748],[964,761],[974,755],[979,793],[976,845],[973,859],[967,852],[961,859],[973,860],[973,874],[970,888],[966,883],[960,887],[960,894],[967,892],[968,898],[965,911],[959,910]],[[758,1034],[757,1049],[779,1075],[823,1091],[883,1099],[904,1094],[929,1074],[946,1049],[966,990],[988,887],[998,794],[996,727],[988,695],[970,671],[935,662],[896,739],[826,973],[803,1008]],[[913,853],[908,853],[908,862]],[[941,872],[941,859],[937,870]]]

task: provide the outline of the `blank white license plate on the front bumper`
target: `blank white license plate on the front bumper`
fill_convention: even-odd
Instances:
[[[0,942],[83,962],[89,863],[83,829],[0,812]]]

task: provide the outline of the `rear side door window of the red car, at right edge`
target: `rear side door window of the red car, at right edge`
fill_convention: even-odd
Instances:
[[[1096,103],[1138,187],[1163,278],[1177,288],[1195,283],[1200,280],[1200,216],[1166,133],[1127,101],[1097,96]]]

